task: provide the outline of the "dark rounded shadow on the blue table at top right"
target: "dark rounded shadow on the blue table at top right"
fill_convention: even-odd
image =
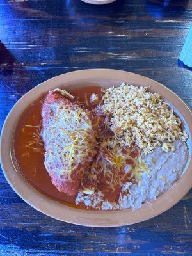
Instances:
[[[189,0],[147,0],[146,9],[150,16],[160,19],[161,17],[180,17],[188,7]]]

